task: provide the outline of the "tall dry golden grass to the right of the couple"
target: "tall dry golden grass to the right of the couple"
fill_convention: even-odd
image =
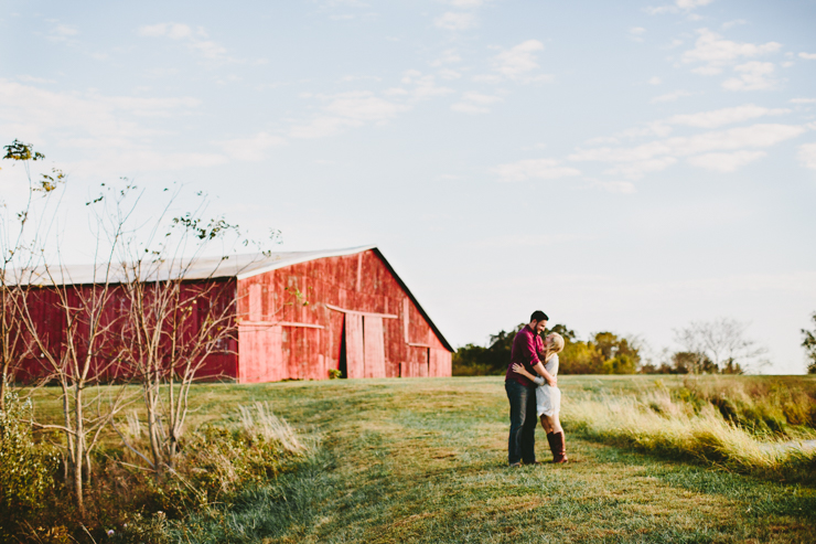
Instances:
[[[573,393],[565,395],[562,417],[575,431],[593,439],[776,480],[816,483],[816,431],[787,424],[779,403],[751,396],[742,384],[717,385],[686,383],[672,391],[658,382],[636,393]],[[803,406],[798,412],[810,409],[807,402]],[[775,423],[769,425],[766,419]]]

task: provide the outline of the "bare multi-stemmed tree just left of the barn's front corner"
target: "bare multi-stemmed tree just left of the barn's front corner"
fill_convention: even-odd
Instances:
[[[119,255],[127,300],[121,359],[140,383],[149,451],[115,428],[126,447],[158,476],[174,469],[191,387],[219,377],[210,366],[213,356],[235,352],[235,286],[218,279],[218,273],[223,266],[248,266],[254,258],[238,265],[237,256],[230,257],[225,248],[232,253],[249,245],[262,247],[223,217],[205,220],[206,199],[194,212],[171,218],[167,230],[158,228],[176,196],[178,192],[169,199],[150,235],[122,243]],[[221,245],[221,256],[203,257],[214,243]],[[260,252],[255,259],[269,256],[268,250]]]

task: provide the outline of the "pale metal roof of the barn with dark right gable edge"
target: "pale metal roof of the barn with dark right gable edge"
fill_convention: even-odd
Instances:
[[[223,257],[198,257],[194,260],[176,260],[176,262],[162,262],[151,263],[146,259],[142,265],[143,277],[142,281],[163,281],[167,279],[178,279],[183,277],[185,280],[196,279],[215,279],[215,278],[237,278],[245,279],[259,274],[265,274],[270,270],[278,268],[284,268],[287,266],[298,265],[300,263],[307,263],[309,260],[315,260],[326,257],[341,257],[344,255],[355,255],[357,253],[367,252],[373,249],[377,256],[383,260],[385,266],[390,270],[394,278],[402,287],[405,292],[410,297],[411,301],[416,305],[419,312],[428,321],[428,324],[433,329],[433,332],[450,351],[455,351],[451,344],[445,340],[442,333],[439,331],[437,326],[431,321],[431,318],[422,309],[422,306],[417,300],[417,297],[408,289],[405,281],[397,275],[394,267],[388,263],[383,253],[375,245],[346,247],[344,249],[320,249],[314,252],[280,252],[271,255],[264,254],[244,254],[244,255],[230,255],[227,258]],[[7,281],[20,282],[25,285],[93,285],[105,282],[105,275],[109,274],[107,281],[109,284],[122,284],[129,280],[128,276],[132,278],[132,273],[126,275],[125,265],[112,266],[109,270],[106,270],[105,264],[100,265],[62,265],[52,266],[49,269],[45,267],[37,267],[30,270],[15,270],[18,276],[12,281],[9,278]]]

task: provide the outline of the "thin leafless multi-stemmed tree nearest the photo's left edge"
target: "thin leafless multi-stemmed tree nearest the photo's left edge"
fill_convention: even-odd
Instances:
[[[7,150],[7,154],[15,154],[18,160],[43,158],[18,141]],[[56,189],[64,174],[58,170],[53,173],[43,175],[40,186],[33,186],[32,191],[50,193]],[[26,174],[30,178],[28,168]],[[13,320],[8,321],[13,332],[6,334],[3,341],[10,353],[4,363],[12,359],[23,361],[26,378],[39,378],[39,385],[55,383],[60,387],[62,423],[32,422],[32,425],[63,435],[65,480],[84,515],[84,484],[92,473],[90,452],[103,429],[128,401],[124,385],[103,386],[116,377],[115,367],[121,354],[120,346],[112,341],[121,319],[110,311],[109,302],[116,290],[111,256],[124,235],[124,223],[112,233],[112,239],[107,241],[109,244],[97,238],[89,276],[73,278],[62,264],[62,238],[52,234],[56,214],[40,210],[35,218],[30,212],[31,205],[21,214],[21,228],[32,221],[39,226],[28,236],[20,236],[25,243],[18,243],[17,249],[24,248],[28,256],[20,253],[17,259],[10,260],[19,267],[11,276],[7,275],[13,278],[13,285],[7,280],[4,286],[8,288],[3,295],[11,300],[10,311],[14,312]],[[55,264],[45,258],[52,250]]]

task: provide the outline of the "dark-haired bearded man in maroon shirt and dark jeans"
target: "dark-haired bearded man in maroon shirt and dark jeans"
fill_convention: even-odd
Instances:
[[[547,328],[547,314],[536,310],[530,322],[513,339],[511,361],[504,377],[504,390],[511,405],[511,433],[507,440],[507,462],[511,467],[536,465],[536,384],[513,371],[518,363],[530,374],[538,373],[548,384],[556,385],[556,377],[544,369],[538,354],[544,352],[539,334]]]

